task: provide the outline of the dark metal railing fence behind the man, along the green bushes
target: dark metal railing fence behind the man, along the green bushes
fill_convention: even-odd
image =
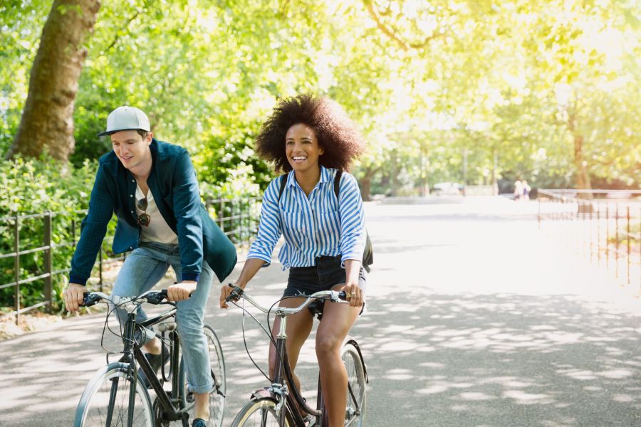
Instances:
[[[205,205],[236,245],[249,243],[256,233],[260,198],[212,199]],[[0,292],[5,292],[0,297],[6,300],[7,292],[3,290],[13,288],[13,304],[0,307],[3,309],[0,319],[15,316],[17,324],[24,312],[40,307],[51,312],[54,280],[66,280],[66,274],[71,270],[71,255],[80,236],[81,219],[86,213],[86,210],[76,210],[0,218]],[[108,230],[115,229],[115,218],[112,222]],[[67,240],[62,241],[62,236]],[[112,242],[113,231],[108,231],[95,262],[90,288],[102,291],[103,285],[108,285],[105,283],[105,268],[126,258],[126,253],[119,256],[111,253]],[[42,285],[33,285],[38,282]],[[31,294],[30,297],[23,296],[24,290]],[[38,302],[24,304],[24,300],[34,299]]]

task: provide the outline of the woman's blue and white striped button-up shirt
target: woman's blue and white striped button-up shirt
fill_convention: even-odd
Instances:
[[[282,234],[285,243],[278,260],[283,268],[311,267],[320,255],[341,255],[341,263],[363,260],[365,218],[360,190],[354,176],[344,172],[338,201],[334,193],[335,174],[336,169],[321,166],[320,181],[306,196],[292,171],[283,177],[287,182],[280,201],[281,178],[271,181],[263,196],[258,235],[247,258],[259,258],[269,265]]]

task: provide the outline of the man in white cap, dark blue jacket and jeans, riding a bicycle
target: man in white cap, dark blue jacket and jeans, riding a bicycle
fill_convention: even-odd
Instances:
[[[69,285],[64,290],[66,308],[75,312],[82,303],[107,224],[116,214],[113,251],[132,253],[118,273],[113,294],[140,295],[150,290],[170,265],[174,268],[179,282],[168,288],[168,297],[177,302],[187,381],[195,397],[193,426],[205,427],[213,383],[202,329],[204,310],[214,273],[222,281],[234,268],[235,248],[201,204],[187,150],[155,139],[144,112],[118,107],[110,113],[105,132],[98,136],[104,135],[110,136],[113,151],[100,158],[89,211],[71,261]],[[137,321],[146,318],[142,310],[137,313]],[[160,340],[150,339],[144,348],[158,371],[166,362],[160,355]]]

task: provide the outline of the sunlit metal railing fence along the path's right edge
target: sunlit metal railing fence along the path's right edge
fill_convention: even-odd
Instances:
[[[538,227],[641,291],[641,191],[538,190]]]

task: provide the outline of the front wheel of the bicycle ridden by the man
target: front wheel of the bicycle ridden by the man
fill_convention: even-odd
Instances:
[[[128,365],[113,363],[100,369],[80,397],[75,410],[74,427],[128,426],[131,381]],[[153,427],[154,420],[149,393],[137,381],[131,426]]]

